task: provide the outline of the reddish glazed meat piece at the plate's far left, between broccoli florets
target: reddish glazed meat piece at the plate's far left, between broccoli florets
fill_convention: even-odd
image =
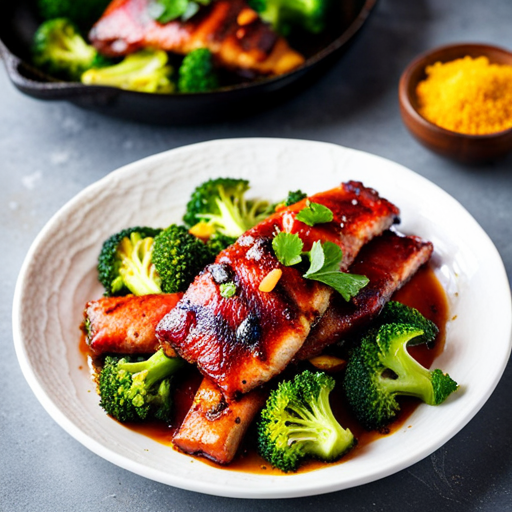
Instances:
[[[158,322],[171,311],[182,293],[102,297],[88,302],[82,329],[95,355],[151,354],[160,348]]]

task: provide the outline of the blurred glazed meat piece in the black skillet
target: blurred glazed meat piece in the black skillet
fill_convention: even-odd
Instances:
[[[284,38],[245,0],[216,0],[190,20],[161,24],[148,13],[150,0],[114,0],[89,33],[100,53],[120,57],[143,48],[185,55],[208,48],[222,66],[258,75],[280,75],[304,63]]]

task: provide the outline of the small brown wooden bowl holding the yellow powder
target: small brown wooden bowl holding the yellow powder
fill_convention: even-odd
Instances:
[[[426,78],[425,68],[435,62],[486,56],[490,62],[512,65],[512,53],[486,44],[451,44],[417,57],[402,73],[398,88],[400,114],[411,134],[440,155],[463,162],[495,160],[512,151],[512,129],[488,135],[466,135],[440,128],[418,113],[416,86]]]

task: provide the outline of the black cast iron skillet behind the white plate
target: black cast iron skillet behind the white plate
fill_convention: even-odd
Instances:
[[[336,10],[321,36],[290,41],[306,56],[298,69],[275,78],[200,94],[149,94],[60,82],[30,65],[30,44],[41,22],[34,0],[6,2],[0,17],[0,55],[14,85],[42,100],[67,100],[106,115],[154,124],[222,121],[271,106],[308,85],[347,49],[377,0],[334,0]]]

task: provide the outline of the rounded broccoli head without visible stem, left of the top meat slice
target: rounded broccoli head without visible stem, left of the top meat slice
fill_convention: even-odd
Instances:
[[[171,224],[153,244],[152,262],[164,293],[185,291],[194,277],[215,259],[207,245],[187,228]]]

